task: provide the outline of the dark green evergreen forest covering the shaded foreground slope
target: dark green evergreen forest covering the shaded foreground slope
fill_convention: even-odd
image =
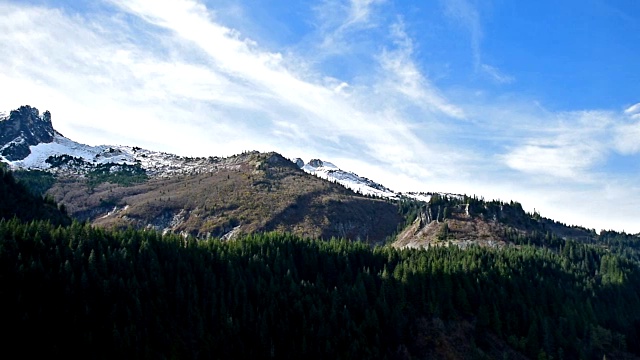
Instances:
[[[469,320],[479,352],[494,336],[529,358],[640,353],[637,264],[575,242],[399,251],[12,220],[0,274],[5,351],[26,357],[419,357],[421,319]]]

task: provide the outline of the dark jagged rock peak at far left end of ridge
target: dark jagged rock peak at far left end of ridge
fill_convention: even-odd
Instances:
[[[22,160],[31,153],[29,146],[50,143],[54,134],[49,111],[40,115],[36,108],[21,106],[0,119],[0,155],[9,161]]]

